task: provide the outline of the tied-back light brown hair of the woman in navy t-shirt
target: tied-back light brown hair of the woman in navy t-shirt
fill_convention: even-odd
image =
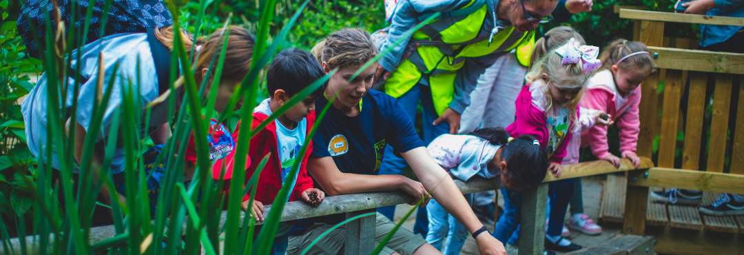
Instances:
[[[370,33],[359,28],[346,28],[331,33],[310,51],[318,62],[330,68],[364,65],[379,54]]]

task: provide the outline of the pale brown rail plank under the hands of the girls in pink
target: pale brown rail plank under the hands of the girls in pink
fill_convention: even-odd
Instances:
[[[580,178],[590,175],[600,175],[610,172],[625,172],[636,169],[635,167],[633,167],[632,161],[627,158],[620,159],[619,168],[613,166],[612,163],[609,163],[609,161],[588,161],[579,164],[565,164],[562,165],[562,167],[563,172],[561,173],[559,178],[556,178],[554,175],[551,175],[551,173],[548,172],[548,174],[545,175],[545,182]],[[641,157],[641,166],[638,167],[638,169],[651,167],[654,167],[653,161],[651,161],[650,158]]]

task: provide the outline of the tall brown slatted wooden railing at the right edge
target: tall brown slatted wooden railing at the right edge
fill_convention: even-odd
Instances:
[[[661,71],[652,74],[641,85],[641,132],[638,135],[638,155],[651,158],[655,134],[658,140],[658,167],[649,170],[628,172],[623,233],[635,235],[646,234],[646,210],[649,187],[682,188],[709,192],[744,194],[744,89],[732,94],[732,74],[744,74],[744,54],[731,54],[715,51],[696,51],[679,48],[663,48],[664,22],[735,25],[744,26],[744,19],[724,16],[704,16],[682,13],[661,13],[647,10],[629,10],[620,8],[620,17],[634,19],[639,25],[638,41],[649,46],[655,57],[655,65]],[[702,134],[705,134],[703,120],[708,74],[715,75],[713,109],[708,138],[707,172],[697,171],[701,159]],[[685,75],[686,74],[686,75]],[[689,76],[689,97],[687,114],[681,116],[680,102]],[[664,89],[657,94],[659,81],[664,80]],[[738,97],[737,112],[730,112],[732,96]],[[661,125],[658,123],[658,102],[661,104]],[[737,114],[736,128],[731,130],[734,146],[731,152],[731,173],[723,173],[726,154],[726,139],[729,114]],[[681,118],[684,118],[682,120]],[[655,130],[660,128],[660,130]],[[684,148],[681,155],[676,152],[677,130],[684,128]],[[681,169],[675,169],[675,158],[682,157]],[[696,212],[696,210],[695,210]],[[664,234],[673,234],[669,231]],[[697,233],[691,238],[702,242],[704,238]],[[709,239],[722,237],[705,237]],[[734,239],[739,239],[734,237]],[[657,239],[658,240],[658,239]],[[699,252],[721,253],[722,250],[710,245],[700,245],[684,239],[667,239],[673,244],[657,247],[660,253],[696,254]],[[687,242],[687,243],[685,243]],[[708,241],[705,241],[708,242]],[[705,243],[702,242],[702,243]],[[725,242],[725,241],[724,241]],[[736,247],[738,243],[738,248]],[[744,252],[742,242],[734,241],[738,252]],[[707,250],[696,248],[702,247]],[[723,254],[728,251],[722,252]]]

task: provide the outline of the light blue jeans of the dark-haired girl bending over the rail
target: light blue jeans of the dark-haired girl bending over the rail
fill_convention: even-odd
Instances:
[[[471,203],[472,194],[465,195],[465,200]],[[426,242],[429,242],[444,255],[460,254],[468,233],[465,226],[447,213],[434,199],[426,204],[426,212],[429,215],[429,233],[426,234]],[[445,236],[447,237],[446,241]],[[444,247],[442,247],[442,244],[444,244]]]

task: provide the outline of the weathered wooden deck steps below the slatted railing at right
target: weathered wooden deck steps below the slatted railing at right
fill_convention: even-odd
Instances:
[[[623,222],[627,179],[623,175],[608,175],[602,190],[599,218],[603,222]],[[650,191],[662,190],[651,187]],[[703,193],[703,204],[712,204],[721,193]],[[690,230],[710,230],[723,233],[744,233],[744,216],[706,216],[695,206],[652,203],[646,210],[646,225],[671,226]]]

